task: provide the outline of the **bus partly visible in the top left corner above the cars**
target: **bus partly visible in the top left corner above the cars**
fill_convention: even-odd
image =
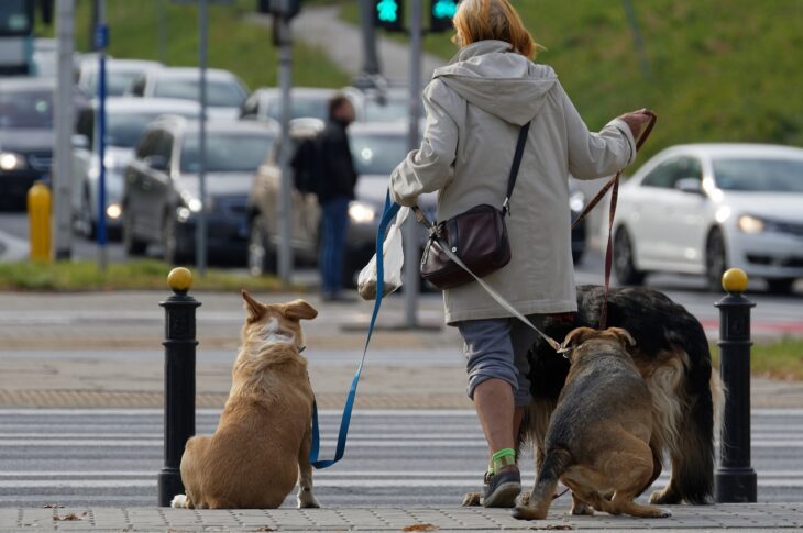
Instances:
[[[0,0],[0,76],[33,74],[36,0]]]

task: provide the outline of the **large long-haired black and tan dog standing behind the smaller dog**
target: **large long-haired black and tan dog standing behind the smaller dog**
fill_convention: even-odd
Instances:
[[[571,321],[547,320],[544,332],[564,338],[576,327],[598,327],[604,288],[578,287],[578,313]],[[711,351],[697,319],[666,295],[647,288],[614,288],[608,299],[607,325],[627,330],[636,340],[631,356],[650,390],[652,437],[657,465],[671,460],[669,486],[653,492],[658,504],[710,501],[714,490],[715,413],[724,403],[718,375],[712,373]],[[550,415],[569,374],[569,362],[540,337],[529,353],[532,403],[518,437],[519,448],[534,446],[536,471],[543,463]],[[653,477],[661,470],[657,468]],[[645,487],[647,489],[648,487]],[[476,492],[464,506],[480,504]]]

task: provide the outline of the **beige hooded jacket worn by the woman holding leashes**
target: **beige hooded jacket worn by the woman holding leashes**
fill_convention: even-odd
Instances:
[[[593,179],[630,164],[630,129],[616,119],[590,133],[552,68],[502,41],[461,49],[435,71],[424,104],[424,141],[392,174],[393,201],[439,191],[439,221],[502,208],[519,129],[532,121],[506,219],[512,259],[484,280],[524,314],[575,311],[569,174]],[[443,302],[450,324],[510,315],[476,282],[444,290]]]

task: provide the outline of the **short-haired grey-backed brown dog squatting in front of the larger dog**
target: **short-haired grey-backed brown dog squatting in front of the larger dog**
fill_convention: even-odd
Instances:
[[[650,391],[628,353],[635,344],[619,327],[569,333],[563,348],[571,369],[549,422],[536,486],[515,518],[547,518],[558,480],[572,490],[572,514],[670,515],[634,501],[660,470],[649,446]]]

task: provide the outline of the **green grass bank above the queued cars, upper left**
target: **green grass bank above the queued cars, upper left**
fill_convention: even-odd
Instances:
[[[107,0],[109,53],[117,58],[160,59],[158,3],[153,0]],[[76,48],[89,49],[90,2],[77,2]],[[198,10],[164,1],[170,66],[198,65]],[[240,76],[251,89],[277,85],[278,54],[268,26],[249,21],[255,0],[209,5],[208,65]],[[53,29],[48,30],[52,34]],[[301,36],[302,37],[302,36]],[[298,86],[343,87],[349,76],[319,48],[296,40],[293,81]]]

